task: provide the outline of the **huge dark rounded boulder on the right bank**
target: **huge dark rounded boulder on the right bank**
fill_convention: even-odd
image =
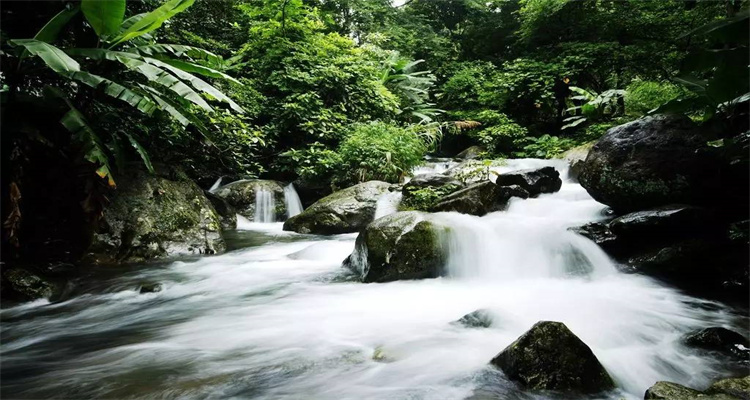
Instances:
[[[670,203],[703,204],[718,188],[718,163],[690,118],[649,116],[614,127],[594,145],[579,176],[617,212]]]

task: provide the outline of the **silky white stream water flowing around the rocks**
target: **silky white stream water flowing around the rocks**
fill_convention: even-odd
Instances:
[[[234,250],[226,254],[100,279],[63,303],[2,310],[1,394],[544,398],[488,365],[540,320],[564,322],[591,347],[620,388],[611,399],[643,398],[657,380],[700,388],[726,373],[730,366],[679,338],[705,326],[744,332],[744,311],[621,273],[566,230],[603,209],[566,182],[482,218],[435,214],[451,227],[448,276],[385,284],[356,282],[341,267],[356,234],[299,235],[244,220],[227,234]],[[138,294],[143,282],[165,288]],[[480,308],[492,314],[491,328],[451,323]]]

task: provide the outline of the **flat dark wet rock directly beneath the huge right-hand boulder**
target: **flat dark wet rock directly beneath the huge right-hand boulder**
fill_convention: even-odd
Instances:
[[[672,204],[615,218],[609,223],[609,229],[622,237],[668,235],[669,238],[677,238],[707,235],[716,231],[716,224],[706,209]]]

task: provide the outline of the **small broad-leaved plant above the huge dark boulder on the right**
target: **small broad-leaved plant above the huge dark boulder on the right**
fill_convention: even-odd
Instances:
[[[562,129],[576,127],[586,121],[599,121],[605,117],[613,117],[622,112],[620,103],[625,95],[624,90],[609,89],[601,93],[586,90],[576,86],[570,86],[570,90],[578,93],[570,99],[583,102],[581,105],[573,106],[565,110],[573,116],[565,118]]]

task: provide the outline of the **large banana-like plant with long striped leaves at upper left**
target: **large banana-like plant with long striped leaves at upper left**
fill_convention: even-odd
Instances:
[[[94,96],[104,95],[147,116],[163,111],[183,126],[195,125],[204,134],[206,127],[195,117],[194,108],[213,112],[209,101],[215,100],[225,103],[236,113],[243,112],[232,99],[196,76],[239,83],[221,72],[225,66],[221,57],[196,47],[157,43],[152,36],[154,30],[190,7],[193,1],[170,0],[151,12],[125,19],[126,0],[82,0],[80,6],[66,6],[34,38],[8,41],[17,55],[14,73],[30,79],[52,71],[68,83],[45,93],[66,102],[69,111],[63,116],[62,125],[83,145],[84,158],[98,166],[96,173],[107,179],[111,186],[115,181],[110,160],[120,154],[112,149],[121,148],[122,140],[126,139],[136,149],[149,170],[153,168],[148,154],[135,137],[125,134],[123,138],[109,132],[105,133],[109,136],[107,139],[88,123],[87,117],[67,93],[77,84],[90,88]],[[61,40],[61,33],[79,12],[94,30],[97,46],[58,47],[55,43],[68,43]],[[31,56],[41,60],[46,69],[31,65],[27,60]],[[100,64],[105,61],[115,64],[116,68],[104,68]],[[92,72],[95,70],[103,72]],[[11,92],[19,89],[10,87]]]

